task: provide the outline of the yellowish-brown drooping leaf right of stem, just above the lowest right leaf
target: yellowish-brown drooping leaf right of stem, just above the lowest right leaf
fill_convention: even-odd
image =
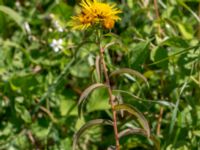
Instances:
[[[147,136],[150,137],[149,124],[148,124],[146,118],[144,117],[144,115],[141,112],[139,112],[135,107],[133,107],[131,105],[127,105],[127,104],[119,104],[119,105],[115,105],[114,109],[115,110],[126,110],[130,114],[137,117],[139,123],[145,129]]]

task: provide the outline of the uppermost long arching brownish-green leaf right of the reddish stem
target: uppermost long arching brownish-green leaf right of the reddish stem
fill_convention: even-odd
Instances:
[[[138,77],[138,78],[142,79],[149,86],[148,81],[145,78],[145,76],[143,76],[138,71],[133,70],[133,69],[129,69],[129,68],[122,68],[122,69],[115,70],[110,74],[110,77],[118,75],[118,74],[124,74],[124,73],[128,73],[128,74],[130,74],[132,76],[135,76],[135,77]]]

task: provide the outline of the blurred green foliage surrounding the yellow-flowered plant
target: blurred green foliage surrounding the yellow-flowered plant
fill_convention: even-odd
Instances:
[[[129,75],[112,78],[116,96],[145,115],[161,149],[200,149],[199,0],[112,2],[123,13],[102,41],[118,43],[106,51],[108,71],[132,68],[149,83],[148,88]],[[98,47],[91,43],[92,31],[67,26],[77,4],[0,0],[0,149],[69,150],[85,122],[111,118],[105,89],[88,97],[84,117],[78,118],[79,96],[97,80]],[[119,120],[120,130],[138,126],[128,115]],[[107,149],[113,135],[109,126],[90,128],[79,148]],[[123,137],[120,144],[124,150],[155,149],[141,135]]]

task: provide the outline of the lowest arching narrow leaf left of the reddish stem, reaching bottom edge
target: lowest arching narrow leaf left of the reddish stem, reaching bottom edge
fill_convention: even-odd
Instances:
[[[77,145],[78,139],[81,136],[81,134],[85,130],[87,130],[87,129],[93,127],[93,126],[96,126],[96,125],[110,125],[110,126],[112,126],[113,122],[111,120],[106,120],[106,119],[95,119],[95,120],[91,120],[91,121],[87,122],[86,124],[84,124],[74,135],[72,150],[76,149],[76,145]]]

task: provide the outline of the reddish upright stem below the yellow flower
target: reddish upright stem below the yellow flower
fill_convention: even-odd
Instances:
[[[114,98],[113,98],[113,95],[112,95],[110,80],[109,80],[109,77],[108,77],[107,67],[106,67],[105,60],[104,60],[104,48],[101,47],[101,45],[100,45],[100,61],[101,61],[102,67],[103,67],[103,73],[104,73],[104,76],[105,76],[105,79],[106,79],[106,85],[108,86],[109,101],[110,101],[111,108],[112,108],[113,128],[114,128],[114,133],[115,133],[116,150],[120,150],[118,129],[117,129],[117,116],[116,116],[116,111],[114,110],[114,106],[115,106]]]

